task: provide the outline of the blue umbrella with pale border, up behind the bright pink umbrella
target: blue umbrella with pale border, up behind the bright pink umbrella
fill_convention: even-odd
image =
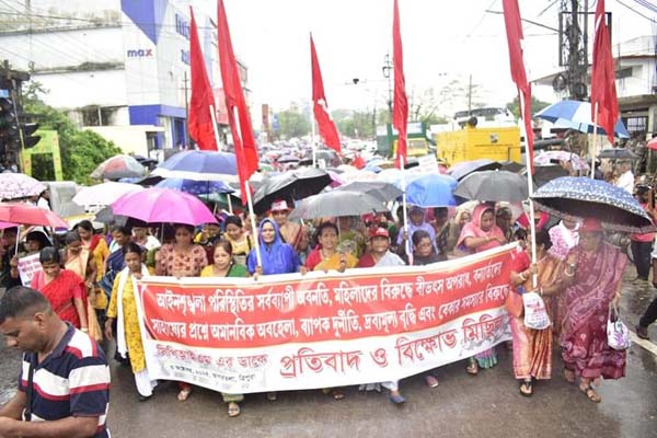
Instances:
[[[151,175],[195,181],[238,181],[238,165],[234,153],[191,150],[172,155]]]

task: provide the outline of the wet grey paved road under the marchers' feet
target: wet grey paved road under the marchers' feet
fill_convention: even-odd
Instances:
[[[631,277],[632,275],[629,275]],[[655,292],[647,285],[625,287],[623,319],[633,326]],[[657,339],[655,327],[652,336]],[[650,344],[657,350],[655,344]],[[648,346],[650,346],[648,345]],[[657,437],[657,358],[638,345],[629,354],[627,377],[606,381],[602,403],[593,404],[562,378],[555,354],[554,378],[535,387],[531,399],[519,395],[511,376],[510,354],[502,348],[500,364],[477,377],[464,364],[440,369],[440,385],[429,389],[420,378],[403,380],[407,403],[401,407],[385,395],[346,391],[334,401],[320,391],[246,395],[242,415],[228,418],[220,396],[196,390],[189,400],[175,400],[173,384],[158,388],[152,400],[139,403],[126,367],[112,364],[108,424],[114,437]],[[0,347],[0,401],[15,384],[18,355]]]

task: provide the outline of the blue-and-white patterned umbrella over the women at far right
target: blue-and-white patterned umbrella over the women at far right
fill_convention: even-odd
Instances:
[[[643,207],[626,191],[604,181],[564,176],[551,181],[532,199],[539,209],[557,217],[599,218],[611,230],[655,231]]]

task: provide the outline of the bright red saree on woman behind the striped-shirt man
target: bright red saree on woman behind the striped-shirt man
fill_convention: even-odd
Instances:
[[[73,299],[81,298],[85,302],[87,289],[84,288],[84,281],[78,274],[61,269],[59,275],[46,285],[46,275],[38,272],[32,278],[30,286],[46,296],[53,310],[62,321],[68,321],[74,327],[80,328],[80,316],[76,310]],[[87,302],[84,306],[87,306]]]

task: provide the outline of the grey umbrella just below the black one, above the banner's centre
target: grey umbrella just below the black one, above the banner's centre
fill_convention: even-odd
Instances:
[[[382,201],[366,193],[332,191],[303,199],[290,214],[290,219],[358,216],[388,211]]]

